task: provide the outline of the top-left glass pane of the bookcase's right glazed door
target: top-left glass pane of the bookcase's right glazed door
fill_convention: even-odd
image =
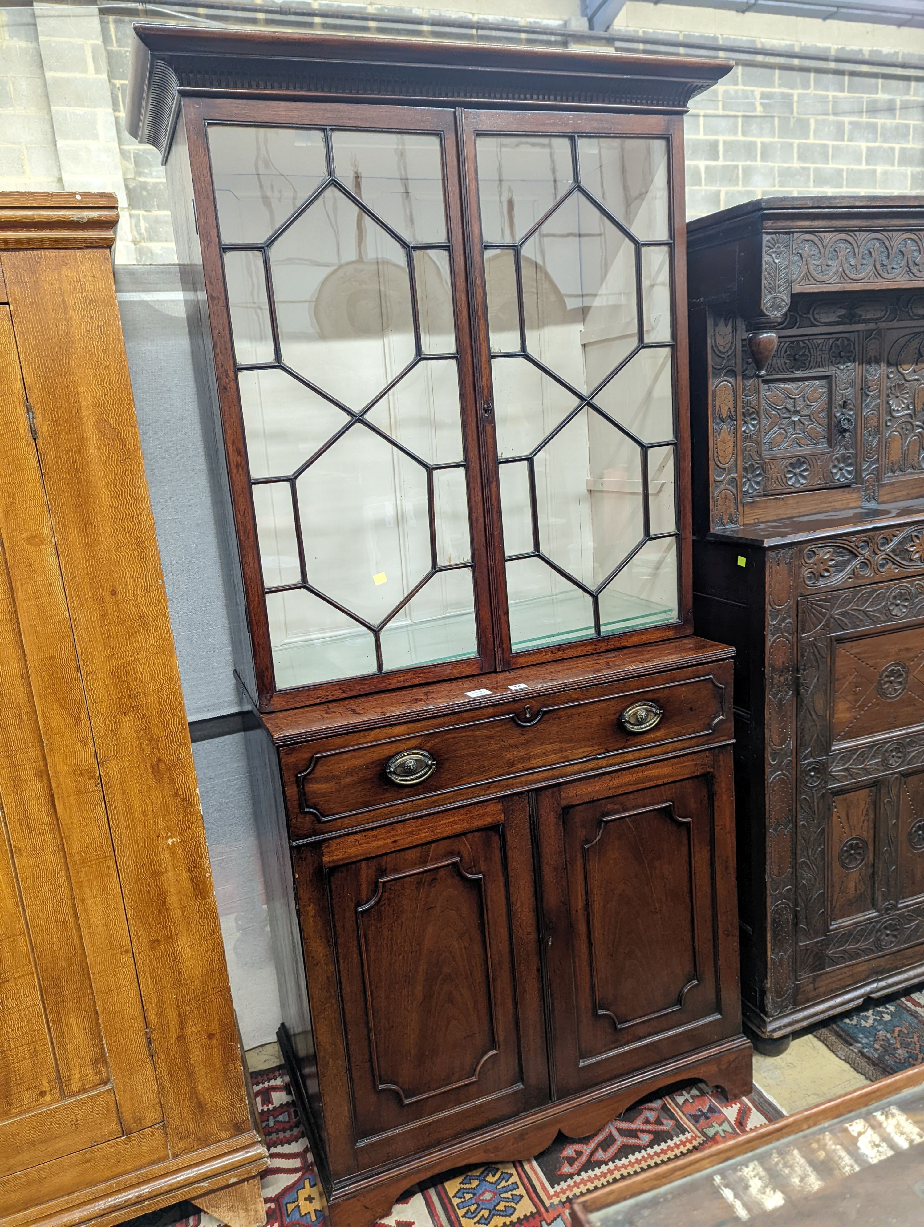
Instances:
[[[485,243],[515,243],[571,187],[567,136],[479,136],[479,201]]]

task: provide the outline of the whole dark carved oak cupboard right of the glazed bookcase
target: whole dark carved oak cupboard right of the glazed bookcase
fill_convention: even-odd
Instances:
[[[693,609],[737,649],[744,1009],[773,1039],[924,977],[924,201],[701,218],[690,286]]]

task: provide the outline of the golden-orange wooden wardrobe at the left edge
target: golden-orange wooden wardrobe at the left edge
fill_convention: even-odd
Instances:
[[[0,1227],[265,1221],[108,193],[0,193]]]

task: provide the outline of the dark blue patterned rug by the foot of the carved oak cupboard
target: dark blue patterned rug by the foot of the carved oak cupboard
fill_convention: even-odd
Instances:
[[[881,998],[812,1032],[870,1082],[924,1064],[924,990]]]

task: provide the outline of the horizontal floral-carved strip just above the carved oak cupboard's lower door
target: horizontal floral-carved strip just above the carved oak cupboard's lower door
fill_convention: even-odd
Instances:
[[[924,572],[924,525],[858,533],[807,545],[803,548],[800,580],[801,587],[811,591],[885,579],[903,571]],[[897,590],[893,601],[903,599]]]

